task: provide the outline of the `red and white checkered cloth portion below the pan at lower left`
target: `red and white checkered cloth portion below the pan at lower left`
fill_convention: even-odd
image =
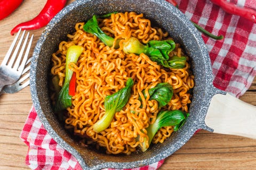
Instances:
[[[20,137],[29,147],[26,156],[26,165],[31,169],[82,169],[76,158],[67,150],[61,148],[61,146],[52,139],[50,134],[47,133],[34,107],[32,107],[28,115]],[[154,170],[159,168],[163,162],[162,160],[149,166],[134,168],[133,170]]]

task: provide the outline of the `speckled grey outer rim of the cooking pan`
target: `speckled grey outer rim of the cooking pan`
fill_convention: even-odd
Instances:
[[[30,89],[31,89],[32,100],[33,100],[36,112],[38,113],[38,116],[39,116],[40,120],[42,121],[43,125],[45,127],[47,127],[46,130],[49,132],[49,134],[52,136],[52,138],[55,141],[57,141],[57,143],[59,143],[64,149],[68,150],[71,154],[76,155],[75,157],[77,158],[79,164],[84,169],[100,169],[100,168],[109,167],[110,165],[113,168],[131,168],[131,165],[134,165],[133,167],[138,167],[138,166],[148,165],[150,163],[153,163],[153,161],[156,162],[156,161],[162,160],[163,158],[167,157],[167,155],[168,156],[171,155],[172,153],[170,154],[170,152],[173,152],[173,151],[167,150],[166,152],[164,152],[161,155],[161,157],[156,155],[156,156],[151,157],[147,160],[143,160],[143,161],[138,160],[137,162],[129,162],[129,163],[101,162],[101,163],[98,163],[97,165],[86,165],[84,160],[83,160],[83,157],[81,156],[81,154],[79,154],[79,152],[74,147],[70,146],[68,143],[63,141],[62,138],[57,138],[57,136],[59,136],[59,135],[57,134],[57,132],[52,130],[53,129],[52,125],[49,123],[48,118],[42,112],[43,108],[41,106],[41,101],[39,100],[39,96],[41,95],[41,93],[38,92],[38,89],[40,88],[38,86],[40,86],[40,84],[38,84],[36,82],[36,79],[35,79],[36,76],[37,76],[36,75],[37,74],[37,70],[36,70],[37,64],[40,62],[40,61],[38,61],[38,56],[41,54],[41,49],[40,48],[41,48],[42,44],[45,42],[47,35],[54,28],[55,24],[61,21],[60,18],[62,16],[65,16],[67,13],[74,10],[74,8],[78,7],[79,5],[86,4],[86,3],[89,3],[89,2],[92,2],[92,1],[77,0],[77,1],[73,2],[72,4],[63,8],[63,10],[60,13],[58,13],[54,17],[54,19],[46,26],[45,30],[43,31],[41,37],[39,38],[39,40],[37,42],[36,48],[35,48],[34,53],[33,53],[33,60],[32,60],[32,65],[33,66],[31,66],[31,73],[30,73],[31,74],[30,75],[30,80],[31,80]],[[201,53],[206,56],[206,57],[204,57],[204,60],[206,60],[206,63],[208,63],[205,67],[211,70],[211,65],[209,64],[210,63],[209,54],[207,52],[206,46],[202,45],[202,44],[204,44],[203,39],[202,39],[201,35],[199,34],[199,32],[194,27],[194,25],[191,24],[189,22],[189,20],[186,18],[186,16],[183,15],[179,10],[177,10],[176,8],[174,8],[171,4],[169,4],[167,2],[163,2],[163,1],[160,1],[160,0],[156,0],[156,1],[150,0],[149,2],[164,4],[167,8],[171,8],[173,11],[175,11],[175,13],[177,13],[177,16],[179,18],[181,18],[183,22],[185,22],[183,24],[186,24],[187,27],[190,29],[189,31],[193,32],[193,35],[195,36],[195,39],[198,40],[197,43],[201,44],[201,50],[202,50]],[[210,94],[210,96],[211,96],[215,93],[215,91],[214,92],[211,91],[211,89],[213,88],[213,86],[212,86],[212,75],[207,75],[207,80],[206,80],[205,84],[207,84],[207,83],[209,83],[210,85],[206,86],[205,94],[206,95]],[[207,102],[207,101],[208,100],[205,100],[205,102]],[[45,111],[45,112],[47,112],[47,111]],[[204,112],[204,111],[202,110],[201,112]],[[203,122],[199,121],[199,125],[198,125],[197,122],[195,123],[195,128],[187,133],[187,135],[188,135],[187,140],[189,140],[192,137],[192,135],[194,134],[194,132],[197,129],[200,129],[200,128],[203,127]],[[178,143],[177,143],[177,145],[178,145]],[[179,145],[176,146],[176,147],[180,148],[181,146],[183,146],[183,143],[179,143]]]

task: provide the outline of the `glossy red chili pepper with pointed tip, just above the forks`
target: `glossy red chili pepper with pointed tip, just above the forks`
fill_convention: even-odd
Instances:
[[[65,6],[67,0],[47,0],[43,10],[32,20],[23,22],[14,27],[11,35],[22,30],[34,30],[46,26],[49,21]]]

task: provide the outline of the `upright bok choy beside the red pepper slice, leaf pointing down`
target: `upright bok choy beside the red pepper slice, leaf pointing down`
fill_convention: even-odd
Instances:
[[[81,46],[70,46],[67,50],[66,55],[66,74],[65,74],[65,82],[60,90],[57,103],[55,105],[55,112],[61,111],[67,107],[71,106],[71,96],[68,94],[69,89],[69,82],[71,79],[71,76],[73,74],[73,71],[68,69],[69,63],[76,63],[78,60],[78,57],[82,54],[84,48]]]

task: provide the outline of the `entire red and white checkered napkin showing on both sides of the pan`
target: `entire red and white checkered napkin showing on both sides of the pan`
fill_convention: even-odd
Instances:
[[[224,12],[209,0],[177,0],[180,10],[193,22],[222,40],[202,34],[209,50],[215,87],[236,97],[244,94],[256,75],[256,24]],[[232,1],[239,6],[256,9],[255,0]],[[28,145],[26,165],[31,169],[82,169],[76,158],[61,148],[47,133],[32,107],[21,139]],[[157,169],[164,160],[145,167]],[[106,170],[106,169],[105,169]]]

